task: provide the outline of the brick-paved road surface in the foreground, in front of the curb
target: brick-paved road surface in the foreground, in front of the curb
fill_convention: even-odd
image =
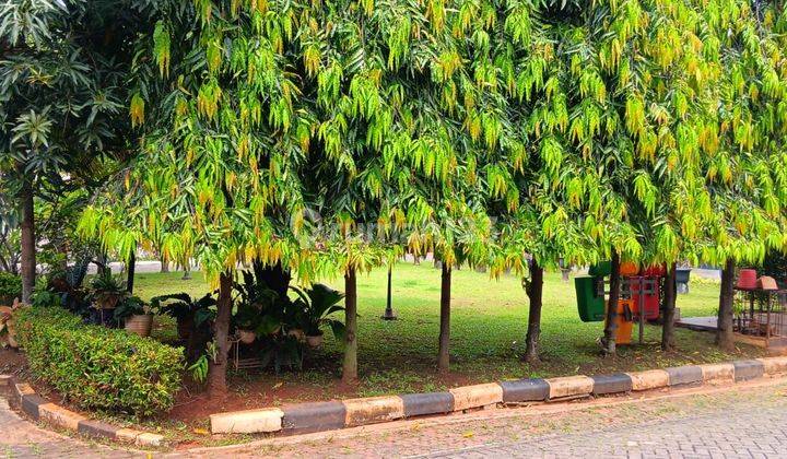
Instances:
[[[451,416],[438,424],[411,421],[399,429],[345,431],[280,446],[154,456],[787,458],[785,384],[537,411],[500,410],[471,419]],[[0,433],[0,458],[133,457],[38,428],[10,411],[2,399]]]

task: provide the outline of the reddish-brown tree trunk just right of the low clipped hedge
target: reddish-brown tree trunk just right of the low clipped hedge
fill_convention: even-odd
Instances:
[[[215,360],[210,360],[208,390],[211,398],[224,398],[227,393],[226,370],[230,354],[230,317],[232,315],[233,279],[228,272],[219,276],[219,299],[216,318],[213,322],[213,341],[216,344]]]

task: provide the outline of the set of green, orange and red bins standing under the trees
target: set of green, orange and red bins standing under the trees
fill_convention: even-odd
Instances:
[[[626,262],[621,264],[620,295],[618,299],[616,344],[631,344],[634,323],[638,323],[638,342],[644,342],[645,322],[661,317],[663,276],[666,267],[638,268]],[[585,322],[606,321],[609,302],[609,281],[612,272],[609,261],[594,264],[588,275],[574,279],[579,318]]]

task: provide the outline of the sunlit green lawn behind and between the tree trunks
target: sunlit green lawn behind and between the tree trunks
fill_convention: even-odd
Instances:
[[[180,273],[139,274],[136,293],[144,298],[175,292],[202,295],[208,285],[199,273],[191,281]],[[579,320],[573,281],[562,282],[560,273],[547,273],[542,314],[541,354],[543,362],[530,366],[521,362],[527,327],[527,297],[519,279],[504,275],[492,280],[486,273],[463,268],[455,271],[451,291],[451,373],[435,374],[439,328],[439,270],[431,263],[400,263],[393,270],[393,309],[399,320],[384,321],[386,270],[359,276],[359,364],[361,384],[352,395],[379,395],[414,390],[435,390],[456,384],[505,378],[548,377],[576,373],[595,374],[636,370],[686,363],[718,362],[741,355],[761,355],[761,350],[740,346],[733,354],[713,345],[710,333],[678,330],[674,353],[659,348],[661,329],[647,326],[644,345],[621,346],[616,358],[600,356],[597,339],[602,323]],[[326,280],[343,290],[343,280]],[[679,295],[678,307],[689,316],[715,314],[718,283],[692,280],[691,293]],[[174,336],[172,322],[164,320],[156,336]],[[636,329],[634,331],[636,337]],[[341,348],[330,332],[322,350],[307,356],[305,370],[281,376],[272,373],[237,375],[236,390],[258,378],[321,388],[305,398],[334,395],[341,367]],[[285,400],[292,398],[285,396]],[[297,398],[297,396],[295,396]]]

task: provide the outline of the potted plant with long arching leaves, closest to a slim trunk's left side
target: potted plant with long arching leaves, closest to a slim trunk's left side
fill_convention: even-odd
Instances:
[[[344,310],[339,306],[344,294],[325,284],[314,284],[310,289],[294,289],[298,294],[303,307],[303,330],[306,333],[306,342],[310,348],[319,348],[322,344],[322,326],[328,326],[337,339],[344,336],[344,323],[331,318],[334,313]]]

